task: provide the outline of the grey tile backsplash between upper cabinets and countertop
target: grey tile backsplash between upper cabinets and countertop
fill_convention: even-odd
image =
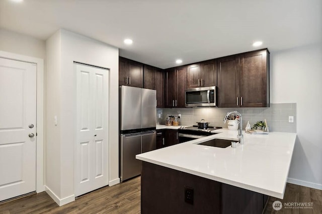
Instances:
[[[197,121],[205,119],[210,126],[227,128],[223,118],[229,111],[238,111],[243,117],[243,129],[249,121],[251,126],[266,119],[270,131],[296,132],[296,103],[271,103],[269,108],[164,108],[156,109],[157,124],[165,124],[170,115],[178,117],[180,125],[196,125]],[[158,117],[160,115],[160,118]],[[294,123],[288,122],[288,116],[294,116]]]

